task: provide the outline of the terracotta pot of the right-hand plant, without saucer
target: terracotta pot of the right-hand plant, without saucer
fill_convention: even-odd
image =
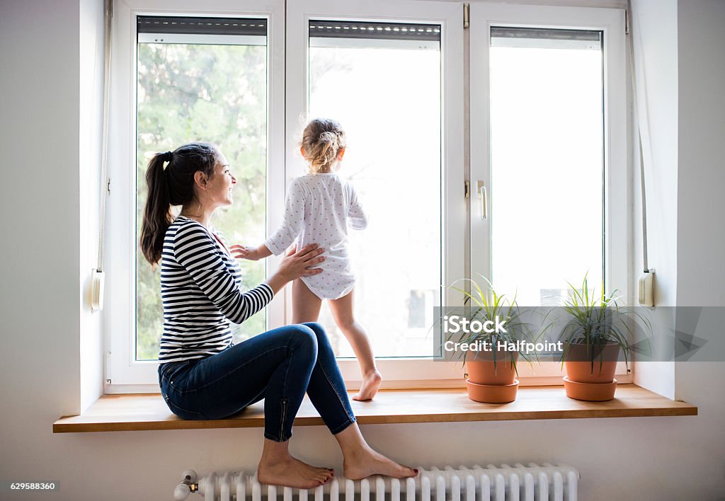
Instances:
[[[614,381],[620,347],[618,344],[602,346],[570,344],[565,348],[566,376],[578,383],[608,383]],[[594,363],[592,363],[592,357]],[[575,361],[576,360],[576,361]],[[581,360],[581,361],[579,361]]]

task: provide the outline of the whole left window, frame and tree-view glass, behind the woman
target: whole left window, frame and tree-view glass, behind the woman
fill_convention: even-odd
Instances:
[[[236,203],[215,217],[229,239],[264,239],[277,210],[269,200],[284,196],[283,1],[250,0],[247,11],[221,0],[194,12],[177,6],[170,0],[114,5],[107,392],[157,389],[158,271],[138,252],[149,155],[188,141],[221,146],[240,188]],[[241,265],[250,286],[264,279],[265,263]],[[281,325],[282,310],[268,305],[234,337]]]

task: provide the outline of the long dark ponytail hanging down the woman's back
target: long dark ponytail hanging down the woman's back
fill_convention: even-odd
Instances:
[[[171,225],[171,207],[169,187],[164,172],[164,163],[170,162],[173,154],[157,153],[149,162],[146,170],[146,186],[149,196],[144,209],[144,221],[141,223],[141,252],[146,261],[155,265],[161,259],[166,230]]]

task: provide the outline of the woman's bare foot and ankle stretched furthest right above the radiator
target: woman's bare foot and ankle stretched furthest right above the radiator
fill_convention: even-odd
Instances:
[[[343,456],[343,474],[348,479],[365,479],[370,475],[386,475],[396,479],[407,479],[418,475],[418,470],[399,465],[370,448],[357,423],[352,423],[339,434],[334,435],[340,444]]]

